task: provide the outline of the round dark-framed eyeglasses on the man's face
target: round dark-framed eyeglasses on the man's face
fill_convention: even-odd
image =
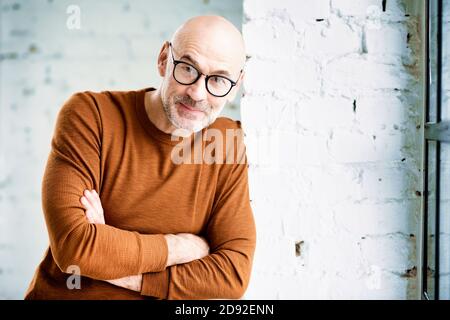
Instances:
[[[197,82],[198,79],[203,73],[197,70],[192,64],[175,60],[173,56],[173,48],[172,43],[169,42],[170,52],[172,55],[173,61],[173,78],[176,82],[182,85],[191,85]],[[239,73],[239,78],[241,77],[241,72]],[[228,93],[230,93],[231,89],[236,85],[237,81],[233,81],[228,79],[227,77],[220,75],[204,75],[205,76],[205,85],[206,90],[213,95],[214,97],[225,97]],[[239,80],[238,78],[238,80]]]

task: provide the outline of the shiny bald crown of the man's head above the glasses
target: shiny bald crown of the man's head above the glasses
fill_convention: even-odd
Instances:
[[[198,16],[189,19],[174,33],[171,40],[180,52],[192,51],[236,75],[245,63],[245,45],[240,31],[221,16]]]

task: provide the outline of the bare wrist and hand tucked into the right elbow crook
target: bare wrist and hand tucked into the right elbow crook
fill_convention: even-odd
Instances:
[[[192,233],[165,234],[168,257],[166,267],[188,263],[209,254],[208,242]]]

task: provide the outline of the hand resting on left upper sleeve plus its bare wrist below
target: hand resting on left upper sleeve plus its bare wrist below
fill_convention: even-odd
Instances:
[[[90,223],[105,224],[102,202],[100,201],[100,197],[95,190],[84,190],[84,196],[80,198],[80,201],[84,206],[86,218]],[[118,287],[140,292],[142,275],[138,274],[136,276],[106,280],[106,282],[109,282]]]

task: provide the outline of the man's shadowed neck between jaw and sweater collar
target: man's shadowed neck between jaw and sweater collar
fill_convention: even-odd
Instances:
[[[176,127],[164,112],[160,89],[147,91],[144,98],[145,111],[150,121],[162,132],[172,134]]]

